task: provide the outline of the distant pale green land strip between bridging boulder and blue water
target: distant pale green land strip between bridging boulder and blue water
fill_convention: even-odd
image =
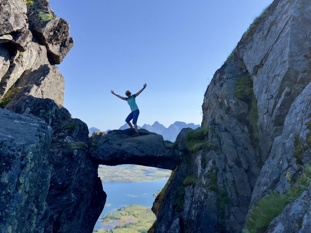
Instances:
[[[167,180],[170,170],[132,165],[128,167],[114,167],[100,165],[98,176],[102,182],[141,182],[151,180]]]

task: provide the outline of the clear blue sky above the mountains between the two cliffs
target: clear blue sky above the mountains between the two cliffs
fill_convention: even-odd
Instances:
[[[75,45],[58,65],[64,106],[100,130],[118,129],[137,99],[137,124],[201,124],[204,92],[243,33],[272,0],[50,0]]]

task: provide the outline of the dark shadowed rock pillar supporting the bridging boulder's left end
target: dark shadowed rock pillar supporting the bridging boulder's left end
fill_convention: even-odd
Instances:
[[[7,109],[39,117],[53,128],[47,153],[52,171],[45,200],[50,213],[44,232],[91,232],[106,194],[97,174],[98,164],[90,159],[86,124],[72,119],[50,99],[24,96],[13,99]]]

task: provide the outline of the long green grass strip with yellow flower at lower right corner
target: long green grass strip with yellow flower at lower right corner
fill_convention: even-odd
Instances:
[[[270,222],[280,215],[287,204],[294,202],[307,190],[311,181],[311,166],[305,166],[298,180],[285,192],[271,191],[248,212],[245,232],[265,232]]]

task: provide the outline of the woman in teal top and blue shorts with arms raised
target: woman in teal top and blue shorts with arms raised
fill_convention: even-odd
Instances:
[[[128,105],[131,107],[131,113],[128,115],[128,117],[125,119],[126,123],[128,123],[128,125],[133,128],[130,120],[133,119],[133,125],[135,127],[135,134],[132,135],[133,137],[137,137],[139,136],[138,134],[138,129],[137,129],[137,119],[138,119],[138,115],[139,115],[139,109],[138,109],[138,106],[136,104],[136,97],[142,93],[142,91],[146,88],[147,84],[145,83],[144,84],[144,87],[139,91],[137,92],[136,94],[133,94],[132,95],[132,92],[130,92],[129,90],[127,90],[125,92],[126,96],[127,97],[122,97],[120,95],[117,95],[114,93],[114,90],[111,90],[110,92],[112,94],[114,94],[115,96],[119,97],[120,99],[123,99],[123,100],[126,100],[128,102]]]

